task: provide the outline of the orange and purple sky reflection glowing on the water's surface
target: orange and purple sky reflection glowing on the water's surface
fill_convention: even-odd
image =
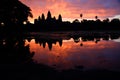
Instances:
[[[83,46],[80,46],[81,43]],[[75,43],[71,38],[63,40],[61,47],[58,42],[52,44],[51,51],[47,43],[43,48],[40,44],[35,43],[35,39],[30,42],[26,40],[27,44],[30,44],[30,50],[35,52],[33,59],[36,62],[59,70],[72,69],[76,66],[84,66],[85,69],[120,70],[120,43],[116,40]]]

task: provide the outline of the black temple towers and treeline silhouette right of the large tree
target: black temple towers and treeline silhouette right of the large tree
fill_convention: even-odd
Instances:
[[[82,18],[82,14],[80,17]],[[34,20],[34,24],[27,23],[26,29],[30,31],[66,31],[66,30],[120,30],[120,20],[114,18],[109,20],[108,18],[104,20],[98,19],[98,16],[95,16],[96,20],[87,20],[82,19],[79,21],[75,19],[73,22],[62,21],[62,16],[59,14],[58,18],[52,17],[51,12],[48,11],[47,17],[42,14],[37,19]]]

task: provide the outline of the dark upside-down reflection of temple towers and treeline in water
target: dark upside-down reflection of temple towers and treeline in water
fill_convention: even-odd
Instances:
[[[83,46],[84,42],[92,41],[96,44],[101,41],[109,41],[113,39],[118,39],[118,32],[53,32],[53,33],[31,33],[31,36],[27,37],[27,41],[31,42],[32,39],[35,40],[36,44],[43,46],[43,48],[48,45],[49,50],[52,50],[52,45],[59,43],[62,47],[63,41],[73,40],[75,43],[80,43]]]

